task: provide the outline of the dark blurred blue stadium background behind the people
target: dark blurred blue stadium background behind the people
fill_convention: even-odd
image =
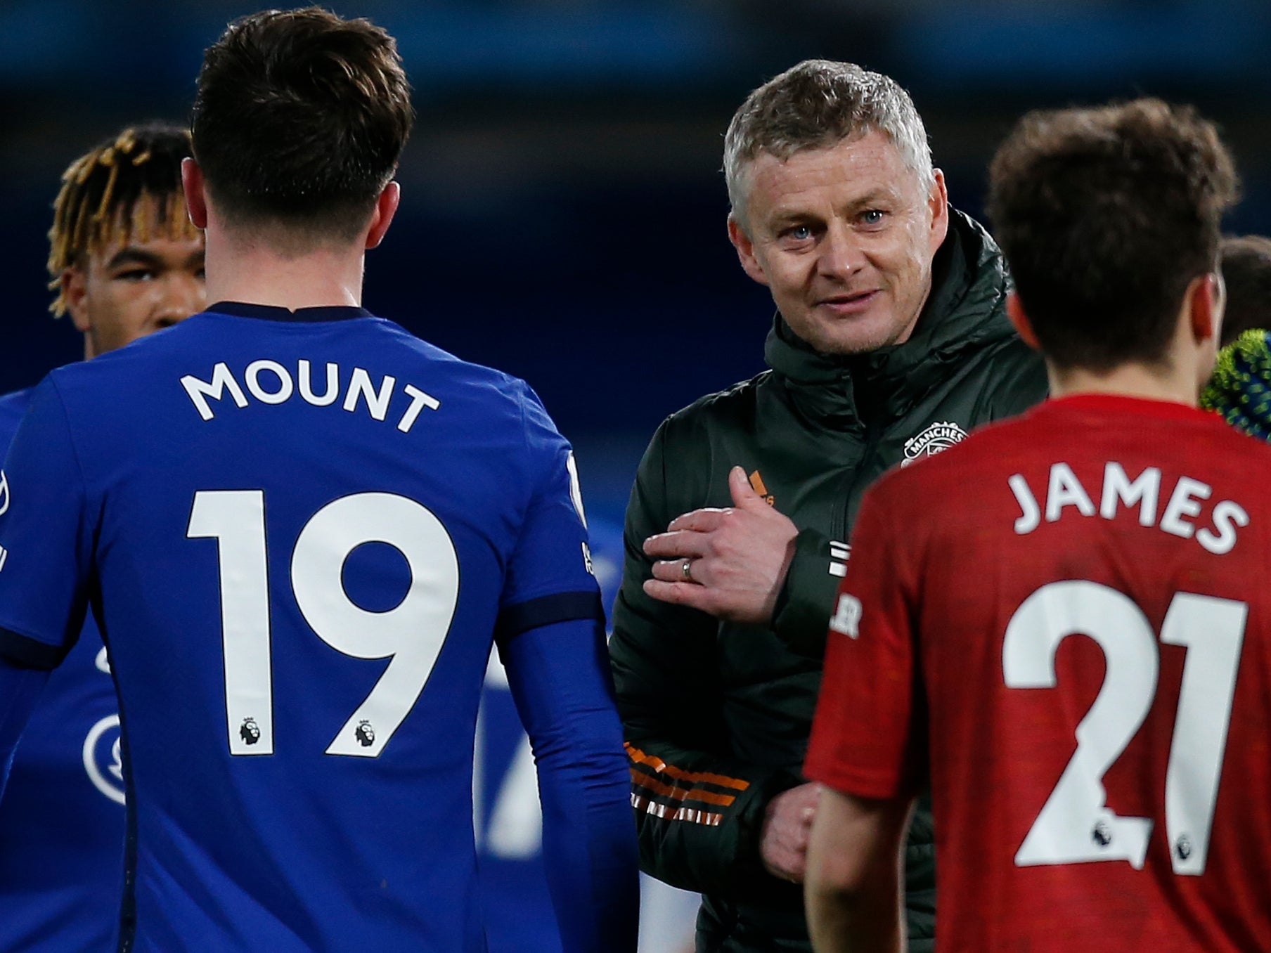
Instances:
[[[366,305],[525,377],[573,441],[611,597],[622,512],[657,423],[763,370],[771,321],[724,234],[722,135],[798,60],[906,86],[953,203],[1038,105],[1155,94],[1216,119],[1244,177],[1230,231],[1271,231],[1266,0],[362,0],[397,36],[419,113],[403,205],[367,259]],[[67,161],[119,126],[182,119],[203,47],[258,9],[230,0],[0,0],[0,391],[81,356],[52,320],[44,233]],[[533,765],[492,675],[478,832],[492,950],[550,914]],[[677,950],[684,902],[651,897],[644,949]],[[501,919],[502,917],[502,919]],[[501,945],[502,944],[502,945]]]

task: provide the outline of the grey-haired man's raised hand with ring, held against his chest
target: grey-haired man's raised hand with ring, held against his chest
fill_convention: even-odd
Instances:
[[[731,507],[694,510],[644,540],[644,553],[657,560],[644,592],[718,619],[768,625],[798,530],[751,488],[740,466],[728,473],[728,489]]]

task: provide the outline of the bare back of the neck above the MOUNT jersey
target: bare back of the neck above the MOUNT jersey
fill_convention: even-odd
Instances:
[[[276,308],[362,304],[362,252],[319,248],[278,254],[261,244],[207,243],[207,300]]]

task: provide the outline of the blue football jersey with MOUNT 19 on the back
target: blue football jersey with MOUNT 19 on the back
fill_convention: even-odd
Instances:
[[[573,473],[524,382],[361,309],[215,305],[50,375],[0,653],[100,624],[125,945],[484,949],[477,705],[493,640],[599,618]]]

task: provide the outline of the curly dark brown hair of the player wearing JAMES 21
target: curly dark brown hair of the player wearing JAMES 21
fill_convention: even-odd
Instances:
[[[1218,268],[1237,193],[1230,154],[1191,107],[1024,116],[993,158],[988,206],[1046,357],[1160,363],[1187,285]]]

